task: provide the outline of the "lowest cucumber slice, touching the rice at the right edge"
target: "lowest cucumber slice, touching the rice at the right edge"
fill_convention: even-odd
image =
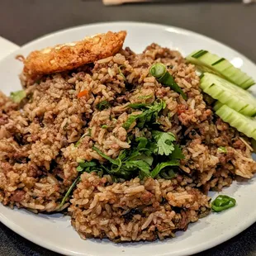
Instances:
[[[256,140],[255,118],[244,116],[232,108],[219,103],[216,104],[214,109],[216,110],[216,115],[220,116],[223,121],[229,123],[230,126],[235,127],[244,135]]]

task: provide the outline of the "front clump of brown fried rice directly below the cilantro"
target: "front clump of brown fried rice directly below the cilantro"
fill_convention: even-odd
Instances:
[[[115,242],[172,237],[210,211],[210,197],[191,182],[135,178],[107,186],[107,178],[83,173],[69,207],[72,225],[82,238]]]

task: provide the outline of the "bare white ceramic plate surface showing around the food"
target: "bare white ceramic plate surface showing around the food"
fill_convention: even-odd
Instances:
[[[230,59],[233,64],[255,77],[256,66],[235,50],[211,40],[206,36],[172,26],[145,23],[116,22],[90,26],[79,26],[60,31],[22,46],[0,62],[0,89],[9,94],[21,88],[18,74],[22,65],[16,55],[27,55],[31,50],[45,46],[80,40],[106,31],[128,31],[125,45],[140,53],[145,46],[156,42],[187,55],[192,50],[205,49]],[[13,46],[13,45],[12,45]],[[1,49],[1,45],[0,45]],[[209,249],[239,234],[256,221],[256,178],[249,183],[234,183],[225,189],[227,195],[235,197],[237,206],[221,213],[213,213],[193,225],[186,232],[178,232],[177,238],[164,242],[113,244],[107,240],[82,240],[70,225],[68,217],[56,215],[34,215],[25,210],[11,210],[0,205],[0,220],[3,224],[36,244],[60,254],[68,255],[191,255]],[[216,197],[213,193],[211,196]]]

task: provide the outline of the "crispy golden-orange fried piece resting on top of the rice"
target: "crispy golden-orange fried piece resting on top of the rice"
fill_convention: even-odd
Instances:
[[[23,72],[26,76],[36,77],[76,69],[83,64],[115,55],[125,39],[126,31],[109,31],[77,42],[35,50],[24,60]]]

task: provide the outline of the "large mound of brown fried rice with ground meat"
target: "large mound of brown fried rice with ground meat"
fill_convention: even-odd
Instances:
[[[155,63],[168,67],[187,100],[149,74]],[[21,74],[26,98],[20,104],[0,94],[0,201],[35,213],[68,213],[83,239],[151,241],[186,230],[211,211],[208,191],[221,191],[235,178],[252,178],[256,172],[249,139],[215,115],[199,82],[194,65],[178,51],[156,44],[142,54],[122,49],[32,84]],[[87,94],[78,97],[84,90]],[[131,114],[130,103],[158,99],[166,103],[159,128],[176,136],[185,156],[175,177],[116,182],[111,175],[83,173],[61,205],[78,178],[79,161],[104,162],[93,145],[116,159],[130,149],[129,134],[151,136],[136,123],[129,130],[122,125]],[[102,101],[111,107],[98,110]]]

